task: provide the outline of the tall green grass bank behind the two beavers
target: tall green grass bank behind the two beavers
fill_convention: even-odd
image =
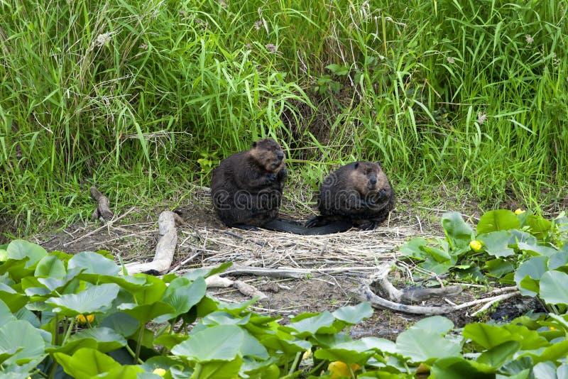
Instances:
[[[263,136],[308,185],[364,159],[486,208],[565,193],[567,1],[307,4],[0,1],[0,216],[168,200]]]

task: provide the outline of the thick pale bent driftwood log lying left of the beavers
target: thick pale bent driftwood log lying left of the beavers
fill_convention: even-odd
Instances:
[[[178,230],[176,226],[184,224],[182,218],[171,211],[164,211],[158,217],[158,231],[160,238],[155,247],[155,256],[151,262],[126,263],[126,270],[129,274],[142,273],[144,271],[155,270],[163,273],[172,265],[175,246],[178,243]]]

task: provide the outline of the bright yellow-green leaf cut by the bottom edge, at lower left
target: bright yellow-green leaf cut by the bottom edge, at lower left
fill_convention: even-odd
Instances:
[[[89,379],[121,367],[113,358],[94,348],[80,348],[72,356],[64,353],[54,353],[53,356],[65,373],[76,379]]]

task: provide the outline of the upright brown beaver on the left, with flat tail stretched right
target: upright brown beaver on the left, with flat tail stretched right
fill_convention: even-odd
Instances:
[[[219,219],[240,229],[261,227],[294,234],[328,234],[351,227],[345,222],[307,229],[276,219],[286,177],[284,153],[272,138],[233,154],[213,171],[211,197]]]

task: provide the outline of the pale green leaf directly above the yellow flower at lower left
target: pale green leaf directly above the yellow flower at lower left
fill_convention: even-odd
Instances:
[[[77,314],[90,314],[94,312],[105,312],[112,301],[118,295],[120,287],[109,283],[94,285],[78,294],[61,295],[46,301],[55,306],[53,312],[61,313],[65,316],[76,316]]]

